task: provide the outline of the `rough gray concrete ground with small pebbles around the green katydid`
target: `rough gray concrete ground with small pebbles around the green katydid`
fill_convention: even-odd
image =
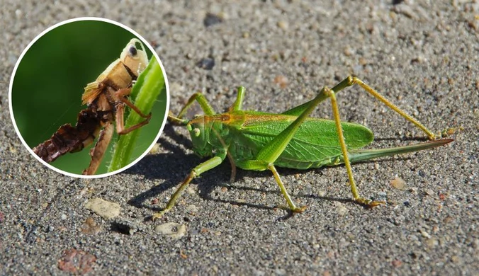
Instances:
[[[0,84],[0,274],[64,275],[59,260],[77,249],[95,256],[90,275],[478,275],[477,1],[149,2],[2,0],[1,81],[45,28],[99,16],[157,44],[174,112],[195,91],[224,110],[239,85],[244,108],[281,112],[356,74],[432,130],[464,130],[439,149],[354,166],[361,195],[388,205],[350,202],[342,166],[279,169],[293,199],[308,205],[288,217],[270,173],[238,171],[228,183],[225,163],[151,222],[200,161],[184,130],[167,125],[159,151],[117,176],[69,178],[28,154]],[[208,13],[222,21],[206,27]],[[208,57],[213,69],[199,68]],[[424,137],[359,88],[339,95],[343,120],[370,127],[373,146]],[[329,104],[315,112],[330,114]],[[395,176],[407,189],[390,186]],[[94,197],[118,203],[120,217],[86,209]],[[98,231],[82,231],[89,218]],[[165,222],[184,224],[186,235],[154,230]]]

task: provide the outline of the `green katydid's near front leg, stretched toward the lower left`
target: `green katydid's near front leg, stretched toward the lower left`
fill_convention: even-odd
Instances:
[[[174,207],[174,205],[176,204],[176,201],[179,199],[179,197],[184,192],[186,187],[188,187],[191,180],[200,176],[201,173],[204,173],[205,171],[209,171],[210,169],[215,168],[216,166],[220,165],[220,163],[222,163],[222,161],[225,160],[225,157],[226,157],[226,153],[222,152],[218,156],[214,156],[213,158],[208,159],[207,161],[205,161],[205,162],[199,164],[198,166],[196,166],[195,168],[193,168],[193,170],[191,170],[191,172],[188,174],[188,176],[186,176],[186,178],[183,180],[183,183],[181,183],[179,188],[176,189],[176,191],[174,192],[173,195],[171,195],[171,198],[170,198],[170,200],[167,204],[167,207],[165,207],[161,212],[153,214],[152,219],[159,219],[164,214],[169,212],[169,210]]]

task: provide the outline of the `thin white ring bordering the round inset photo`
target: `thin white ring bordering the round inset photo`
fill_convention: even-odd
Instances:
[[[39,40],[41,37],[43,37],[43,35],[45,35],[45,33],[48,33],[50,32],[50,30],[53,30],[57,27],[60,27],[61,25],[65,25],[65,24],[68,24],[68,23],[72,23],[72,22],[77,22],[77,21],[103,21],[103,22],[106,22],[106,23],[111,23],[113,25],[117,25],[125,30],[128,30],[130,33],[133,33],[133,35],[136,35],[137,38],[140,38],[140,40],[143,42],[143,45],[146,45],[146,47],[148,47],[148,49],[150,49],[150,51],[152,52],[154,58],[157,59],[158,63],[159,63],[159,67],[162,68],[162,71],[163,71],[163,77],[164,77],[164,84],[166,86],[166,90],[167,90],[167,106],[166,106],[166,113],[164,114],[164,119],[163,119],[163,122],[162,122],[162,127],[159,128],[159,132],[157,134],[157,137],[154,139],[153,143],[148,147],[147,151],[145,151],[145,153],[143,153],[141,156],[139,156],[137,159],[135,159],[135,161],[131,162],[130,164],[128,164],[127,166],[124,166],[123,168],[120,168],[116,171],[112,171],[110,173],[103,173],[103,174],[99,174],[99,175],[94,175],[94,176],[84,176],[84,175],[80,175],[80,174],[75,174],[75,173],[68,173],[67,171],[62,171],[60,170],[59,168],[55,168],[54,166],[50,165],[49,163],[43,161],[43,159],[40,159],[40,157],[38,155],[36,155],[32,149],[30,149],[30,146],[28,146],[28,144],[25,142],[25,140],[23,139],[23,137],[21,136],[20,132],[18,131],[18,127],[16,126],[16,122],[15,122],[15,118],[13,117],[13,105],[12,105],[12,101],[11,101],[11,92],[12,92],[12,88],[13,88],[13,79],[15,79],[15,74],[16,74],[16,70],[18,69],[18,65],[20,64],[21,60],[23,59],[23,56],[26,54],[26,52],[30,49],[30,47],[32,47],[33,44],[35,44],[35,42],[37,42],[37,40]],[[13,72],[11,74],[11,79],[10,79],[10,85],[9,85],[9,109],[10,109],[10,117],[11,117],[11,121],[13,122],[13,127],[15,127],[15,131],[16,131],[16,134],[18,135],[18,137],[21,139],[21,142],[23,144],[23,146],[26,146],[26,148],[28,149],[28,151],[30,152],[30,154],[32,154],[33,156],[35,156],[35,159],[37,159],[38,161],[40,161],[41,163],[43,163],[43,165],[47,166],[47,168],[50,168],[52,169],[53,171],[56,171],[57,173],[62,173],[63,175],[65,176],[70,176],[70,177],[74,177],[74,178],[104,178],[104,177],[107,177],[107,176],[113,176],[114,174],[117,174],[117,173],[121,173],[122,171],[125,171],[126,169],[130,168],[131,166],[135,165],[136,163],[138,163],[138,161],[140,161],[141,159],[143,159],[143,157],[145,157],[149,152],[150,150],[152,149],[152,147],[154,146],[154,144],[157,143],[158,139],[159,139],[159,135],[162,134],[163,132],[163,128],[164,128],[164,125],[166,124],[167,122],[167,113],[168,113],[168,110],[169,110],[169,86],[168,86],[168,79],[167,79],[167,74],[166,74],[166,71],[164,71],[164,67],[163,67],[163,64],[162,64],[162,61],[161,59],[159,59],[158,57],[158,54],[157,52],[153,49],[153,47],[150,45],[150,43],[147,42],[147,40],[145,40],[145,38],[143,38],[141,35],[139,35],[137,32],[135,32],[135,30],[129,28],[128,26],[126,25],[123,25],[122,23],[118,23],[116,21],[113,21],[113,20],[110,20],[110,19],[106,19],[106,18],[98,18],[98,17],[79,17],[79,18],[72,18],[72,19],[69,19],[69,20],[66,20],[66,21],[62,21],[60,23],[57,23],[55,25],[52,25],[50,28],[47,28],[46,30],[44,30],[42,33],[40,33],[39,35],[37,35],[29,44],[28,46],[25,48],[25,50],[23,50],[22,54],[20,55],[20,57],[18,57],[18,60],[15,64],[15,67],[13,67]]]

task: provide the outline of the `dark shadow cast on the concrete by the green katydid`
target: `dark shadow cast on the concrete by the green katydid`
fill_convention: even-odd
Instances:
[[[170,142],[169,139],[164,138],[168,137],[173,142]],[[396,141],[398,137],[385,137],[376,139],[379,142],[388,142],[388,141]],[[422,141],[424,140],[422,137],[410,137],[410,138],[402,138],[401,140],[414,140],[414,141]],[[159,180],[164,179],[165,181],[159,185],[154,186],[150,190],[146,190],[145,192],[141,192],[140,194],[136,195],[135,197],[128,200],[128,204],[132,205],[137,208],[147,208],[152,209],[152,211],[157,212],[162,210],[161,207],[154,207],[150,204],[150,201],[154,198],[160,197],[165,191],[174,188],[181,182],[184,178],[184,171],[191,170],[196,164],[198,164],[198,156],[195,154],[185,154],[184,150],[181,149],[178,145],[184,145],[186,148],[191,148],[191,140],[188,139],[184,134],[180,134],[176,132],[174,127],[170,124],[165,125],[164,130],[162,132],[162,137],[159,138],[159,144],[161,144],[163,149],[166,149],[168,153],[163,154],[149,154],[145,156],[137,166],[133,166],[132,168],[128,169],[124,173],[131,173],[131,174],[142,174],[147,179],[151,180]],[[391,160],[410,160],[413,159],[412,157],[399,157],[393,156],[385,159],[376,159],[374,161],[363,161],[358,162],[360,163],[371,163],[371,162],[383,162],[383,161],[391,161]],[[340,166],[344,166],[340,165]],[[328,169],[327,167],[322,168],[312,168],[308,171],[316,171],[321,172],[324,169]],[[252,204],[248,202],[238,202],[235,200],[223,200],[220,198],[214,198],[211,196],[211,193],[217,187],[225,187],[229,190],[246,190],[250,192],[259,192],[259,193],[274,193],[276,195],[281,195],[281,191],[279,190],[271,190],[266,188],[253,188],[248,187],[246,185],[237,185],[236,183],[241,182],[244,177],[247,178],[255,178],[255,177],[262,177],[262,178],[269,178],[271,177],[271,173],[269,171],[244,171],[244,170],[237,170],[236,179],[234,183],[227,183],[230,178],[230,164],[227,162],[222,163],[218,168],[215,170],[215,176],[212,176],[210,173],[205,173],[201,178],[196,178],[196,185],[199,190],[199,195],[203,200],[214,200],[215,202],[222,202],[222,203],[229,203],[231,205],[237,206],[247,206],[257,209],[266,209],[266,210],[274,210],[276,206],[267,206],[267,205],[258,205]],[[298,174],[298,170],[290,169],[290,168],[281,168],[281,175],[283,176],[294,176]],[[272,177],[271,177],[272,178]],[[267,181],[267,180],[266,180]],[[271,180],[273,181],[273,180]],[[359,204],[355,200],[351,198],[343,198],[343,197],[328,197],[328,196],[320,196],[320,195],[313,195],[310,193],[301,193],[295,195],[295,197],[300,198],[312,198],[315,200],[327,200],[330,202],[342,202],[342,203],[355,203],[360,205],[361,207],[365,207],[364,205]],[[289,211],[288,208],[285,209]],[[293,212],[288,212],[286,216],[281,217],[279,219],[288,219],[289,217],[293,216]]]

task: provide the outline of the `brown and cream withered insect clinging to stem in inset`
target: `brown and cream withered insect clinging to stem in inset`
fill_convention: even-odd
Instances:
[[[137,45],[140,45],[141,49]],[[83,172],[84,175],[93,175],[113,136],[113,121],[116,122],[118,134],[127,134],[150,121],[151,113],[144,115],[126,98],[130,95],[133,81],[147,64],[145,47],[140,40],[133,38],[121,52],[120,58],[112,62],[96,81],[86,85],[81,100],[87,108],[78,114],[77,125],[74,127],[70,124],[62,125],[50,139],[35,146],[33,152],[50,163],[67,152],[81,151],[98,137],[90,151],[90,165]],[[135,110],[145,120],[125,129],[123,120],[125,105]]]

